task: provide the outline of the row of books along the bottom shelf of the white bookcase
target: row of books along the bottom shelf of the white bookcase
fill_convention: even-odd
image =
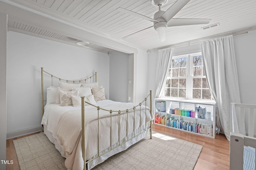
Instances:
[[[160,116],[159,114],[155,114],[155,123],[166,125],[168,127],[174,127],[178,129],[182,129],[185,131],[190,131],[194,133],[200,133],[203,135],[212,136],[212,124],[202,124],[196,123],[194,121],[186,121],[182,119],[176,119],[172,115],[163,115]]]

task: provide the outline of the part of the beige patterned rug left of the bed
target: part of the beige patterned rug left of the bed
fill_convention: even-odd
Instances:
[[[44,133],[13,141],[20,170],[66,170],[65,158]]]

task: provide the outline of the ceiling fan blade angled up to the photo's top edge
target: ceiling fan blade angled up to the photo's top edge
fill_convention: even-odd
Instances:
[[[170,21],[190,0],[177,0],[160,18]]]

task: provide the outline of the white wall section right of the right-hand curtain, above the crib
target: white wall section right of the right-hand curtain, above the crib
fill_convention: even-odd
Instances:
[[[256,30],[234,36],[241,102],[256,104]]]

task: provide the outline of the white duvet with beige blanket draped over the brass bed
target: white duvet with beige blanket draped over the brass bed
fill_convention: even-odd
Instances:
[[[135,104],[114,102],[111,100],[99,101],[97,106],[104,109],[126,110]],[[138,109],[137,109],[138,108]],[[127,135],[132,134],[134,129],[145,125],[150,121],[151,115],[148,107],[139,106],[128,113],[128,125],[126,124],[127,113],[112,113],[111,140],[110,140],[110,113],[100,110],[99,112],[99,152],[110,148],[118,141],[125,139]],[[135,115],[135,124],[134,124]],[[85,133],[86,133],[86,160],[98,154],[98,111],[96,107],[85,106]],[[141,118],[141,119],[140,119]],[[118,125],[118,120],[120,124]],[[141,120],[141,121],[140,121]],[[65,166],[68,169],[82,170],[82,138],[81,138],[81,107],[60,106],[58,104],[46,105],[42,124],[47,125],[47,130],[52,133],[52,137],[58,141],[61,146],[64,157],[66,157]],[[144,126],[145,127],[145,126]],[[119,130],[118,130],[119,129]],[[128,129],[128,132],[127,130]],[[118,136],[120,134],[120,136]],[[129,139],[129,137],[128,137]],[[92,167],[91,167],[92,168]],[[90,168],[89,168],[90,169]]]

